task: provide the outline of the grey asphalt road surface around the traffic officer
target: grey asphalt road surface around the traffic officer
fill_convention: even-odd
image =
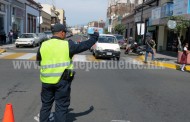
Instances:
[[[32,49],[8,51],[37,50]],[[121,62],[131,61],[131,57],[122,54]],[[31,62],[32,66],[18,69],[19,62]],[[134,62],[126,63],[127,68],[119,67],[118,62],[111,67],[110,62],[75,62],[77,74],[72,83],[67,122],[189,122],[189,73],[147,69],[147,65]],[[93,66],[87,70],[90,65]],[[35,62],[0,59],[0,77],[0,121],[5,105],[12,103],[16,122],[37,122],[41,83]]]

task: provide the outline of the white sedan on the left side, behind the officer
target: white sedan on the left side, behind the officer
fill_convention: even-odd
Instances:
[[[39,37],[35,33],[23,33],[18,39],[15,41],[16,47],[19,46],[33,46],[39,44]]]

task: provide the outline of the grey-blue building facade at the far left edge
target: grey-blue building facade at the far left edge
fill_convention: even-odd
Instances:
[[[26,0],[2,0],[0,1],[0,30],[8,35],[10,30],[16,36],[24,32]]]

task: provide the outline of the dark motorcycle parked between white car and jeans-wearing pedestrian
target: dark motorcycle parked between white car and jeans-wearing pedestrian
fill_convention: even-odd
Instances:
[[[125,54],[129,54],[132,52],[132,53],[136,53],[138,55],[143,55],[144,51],[145,51],[144,46],[139,46],[136,42],[134,42],[134,44],[126,46]]]

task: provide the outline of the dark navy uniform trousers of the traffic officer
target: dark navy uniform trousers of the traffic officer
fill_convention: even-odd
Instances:
[[[70,105],[71,81],[61,79],[57,84],[42,83],[40,122],[50,122],[49,116],[55,100],[54,122],[66,122]]]

